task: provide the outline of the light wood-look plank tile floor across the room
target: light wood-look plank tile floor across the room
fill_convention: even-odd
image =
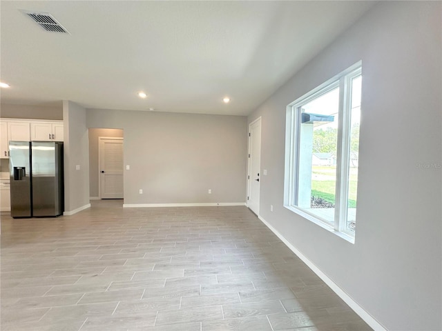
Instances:
[[[246,207],[2,213],[0,294],[2,331],[371,330]]]

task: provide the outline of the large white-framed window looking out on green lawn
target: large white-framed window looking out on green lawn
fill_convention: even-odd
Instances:
[[[354,242],[361,63],[287,106],[285,207]]]

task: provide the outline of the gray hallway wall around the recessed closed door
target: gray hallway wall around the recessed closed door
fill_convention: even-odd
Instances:
[[[98,137],[123,137],[120,129],[89,129],[89,194],[98,197]]]

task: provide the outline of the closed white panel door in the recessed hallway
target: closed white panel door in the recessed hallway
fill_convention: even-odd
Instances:
[[[123,199],[123,138],[98,139],[99,197]]]

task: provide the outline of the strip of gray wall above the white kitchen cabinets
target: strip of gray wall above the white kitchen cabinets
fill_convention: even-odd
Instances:
[[[63,107],[2,103],[0,106],[0,116],[8,119],[63,119]]]

